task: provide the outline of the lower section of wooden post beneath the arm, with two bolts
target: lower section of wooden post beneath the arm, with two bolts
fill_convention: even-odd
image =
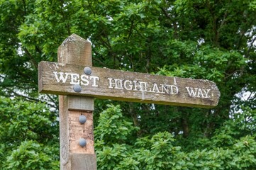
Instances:
[[[93,114],[92,111],[89,111],[91,109],[89,103],[94,103],[94,99],[82,97],[83,102],[77,103],[79,98],[81,97],[60,96],[59,98],[61,170],[96,170]],[[84,100],[84,98],[87,99]],[[77,106],[77,108],[74,108],[74,106]],[[84,124],[79,123],[79,115],[85,115],[87,122]],[[86,147],[79,146],[80,137],[87,140]]]

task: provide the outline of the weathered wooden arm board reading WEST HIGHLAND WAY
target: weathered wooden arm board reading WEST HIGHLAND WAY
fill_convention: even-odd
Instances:
[[[40,62],[39,91],[47,94],[94,96],[97,98],[174,106],[212,108],[220,92],[215,83],[201,79],[164,77],[137,72],[90,67],[81,63]],[[73,86],[79,84],[77,93]]]

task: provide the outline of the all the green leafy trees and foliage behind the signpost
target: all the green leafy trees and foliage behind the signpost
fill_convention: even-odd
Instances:
[[[255,167],[255,1],[0,0],[0,8],[1,169],[48,169],[59,159],[57,97],[38,94],[37,66],[56,61],[72,33],[91,40],[96,67],[209,79],[221,91],[213,109],[97,100],[99,169]],[[104,128],[107,116],[125,129]]]

